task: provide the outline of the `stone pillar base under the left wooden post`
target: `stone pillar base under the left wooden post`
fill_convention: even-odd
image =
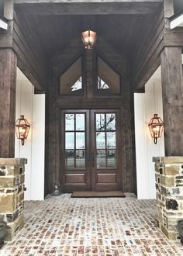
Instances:
[[[23,227],[25,158],[0,158],[0,220],[7,222],[5,240]]]

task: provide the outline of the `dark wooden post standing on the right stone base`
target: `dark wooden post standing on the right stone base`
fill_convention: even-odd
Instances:
[[[183,156],[183,78],[181,47],[161,52],[165,155]]]

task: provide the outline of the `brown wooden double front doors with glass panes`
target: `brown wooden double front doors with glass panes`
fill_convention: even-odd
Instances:
[[[60,120],[63,191],[121,189],[119,110],[63,110]]]

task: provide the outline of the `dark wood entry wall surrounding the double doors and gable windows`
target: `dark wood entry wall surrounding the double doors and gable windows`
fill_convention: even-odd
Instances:
[[[102,52],[105,47],[105,54]],[[102,98],[95,99],[90,90],[89,95],[82,99],[61,99],[59,95],[59,75],[65,71],[68,64],[81,54],[81,49],[70,45],[63,54],[57,54],[52,60],[52,68],[50,69],[50,86],[47,88],[46,112],[47,112],[47,134],[46,134],[46,180],[45,192],[50,192],[54,180],[60,180],[60,109],[111,109],[119,108],[122,115],[122,170],[123,170],[123,191],[136,193],[136,163],[135,163],[135,144],[134,144],[134,123],[133,123],[133,93],[129,87],[129,71],[126,65],[126,59],[116,53],[115,50],[108,45],[96,49],[108,64],[116,65],[120,75],[123,77],[122,95],[119,98]],[[84,54],[85,55],[85,54]],[[90,61],[92,57],[89,57]],[[88,59],[88,61],[89,61]],[[117,59],[118,61],[114,61]],[[90,86],[94,87],[93,71],[88,72],[92,77],[87,78]],[[123,68],[122,68],[123,67]],[[85,78],[84,78],[85,80]],[[91,83],[93,81],[93,83]],[[87,86],[87,85],[86,85]],[[88,85],[89,86],[89,85]]]

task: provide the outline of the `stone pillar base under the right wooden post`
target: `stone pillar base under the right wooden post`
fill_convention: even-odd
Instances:
[[[170,240],[178,238],[183,219],[183,157],[154,157],[157,189],[157,224]]]

